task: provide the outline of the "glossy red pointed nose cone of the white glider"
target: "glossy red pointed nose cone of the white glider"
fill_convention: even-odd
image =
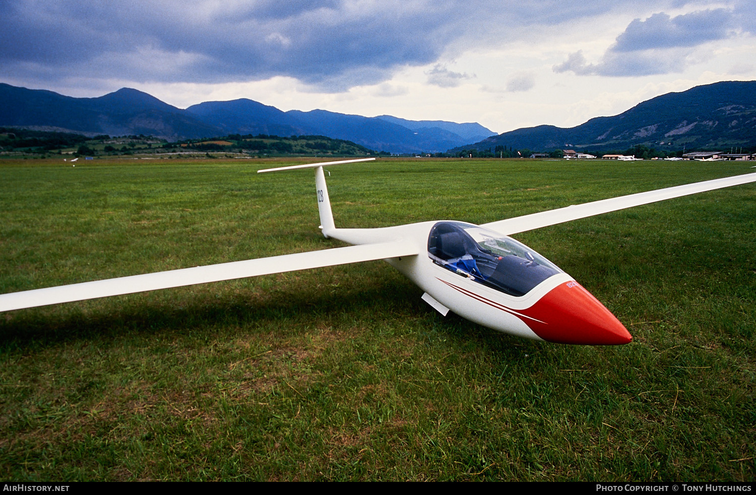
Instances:
[[[528,310],[526,320],[541,339],[559,344],[620,345],[633,336],[606,307],[577,282],[556,286]]]

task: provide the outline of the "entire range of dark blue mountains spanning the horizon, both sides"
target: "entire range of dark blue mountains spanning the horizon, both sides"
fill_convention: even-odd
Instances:
[[[186,110],[122,88],[96,98],[0,83],[0,126],[85,135],[153,135],[169,141],[222,135],[324,135],[375,151],[457,153],[463,149],[606,152],[643,144],[657,150],[756,147],[756,81],[716,82],[662,94],[616,116],[573,128],[553,125],[493,135],[478,123],[365,117],[326,110],[283,112],[242,98]]]

